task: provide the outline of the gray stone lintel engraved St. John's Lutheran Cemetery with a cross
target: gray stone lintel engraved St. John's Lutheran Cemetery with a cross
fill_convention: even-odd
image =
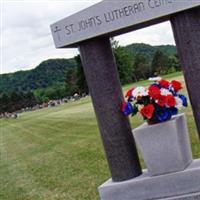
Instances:
[[[107,35],[115,36],[169,19],[170,15],[200,6],[200,0],[104,0],[51,25],[55,46]]]

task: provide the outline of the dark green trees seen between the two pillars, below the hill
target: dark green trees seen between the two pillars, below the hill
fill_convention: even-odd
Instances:
[[[121,47],[116,42],[113,43],[113,50],[122,85],[181,70],[176,53],[167,55],[157,49],[152,58],[149,58],[147,52],[132,56],[126,47]]]

